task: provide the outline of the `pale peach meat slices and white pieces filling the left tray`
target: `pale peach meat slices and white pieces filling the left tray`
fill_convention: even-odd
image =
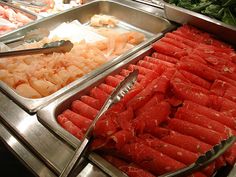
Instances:
[[[63,39],[74,42],[67,53],[2,58],[0,80],[26,98],[49,96],[145,40],[140,32],[114,29],[118,20],[113,18],[95,15],[91,19],[91,26],[113,28],[90,29],[78,21],[63,23],[50,32],[49,38],[12,49],[37,48]],[[70,33],[64,34],[67,30]]]

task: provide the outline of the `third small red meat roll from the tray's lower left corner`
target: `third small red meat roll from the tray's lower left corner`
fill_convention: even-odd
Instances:
[[[92,108],[91,106],[79,100],[73,101],[71,108],[72,108],[72,111],[89,119],[94,119],[95,116],[98,114],[98,110]]]

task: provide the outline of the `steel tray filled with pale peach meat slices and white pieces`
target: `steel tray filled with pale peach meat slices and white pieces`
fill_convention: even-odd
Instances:
[[[105,8],[106,6],[108,6],[108,10]],[[117,13],[115,9],[118,9],[119,12]],[[142,21],[138,18],[131,19],[124,15],[122,11],[131,17],[138,16],[141,19],[148,19],[148,21],[142,24]],[[86,14],[86,16],[83,14]],[[1,80],[5,80],[7,85],[0,83],[0,87],[13,96],[29,112],[35,112],[41,105],[55,99],[72,87],[86,82],[86,80],[91,79],[91,77],[99,74],[104,69],[115,65],[124,60],[126,56],[150,44],[162,34],[162,31],[168,30],[170,26],[170,23],[161,17],[110,1],[91,2],[84,5],[83,8],[75,8],[56,16],[47,17],[11,35],[4,36],[2,39],[8,40],[12,36],[19,37],[19,34],[27,36],[29,31],[46,29],[50,32],[49,36],[46,36],[49,40],[69,39],[74,42],[72,51],[65,54],[57,53],[47,56],[34,55],[32,56],[34,61],[31,60],[31,56],[6,58],[5,61],[2,60],[3,66],[1,69],[3,72]],[[68,28],[73,30],[70,30],[70,33],[65,33]],[[30,43],[25,46],[26,48],[42,46],[47,41],[45,39],[44,42],[39,41],[39,43]],[[89,52],[86,52],[86,50]],[[80,57],[77,57],[77,55]],[[66,60],[64,56],[66,58],[69,57],[70,60]],[[92,56],[95,58],[86,60]],[[45,59],[44,61],[41,60],[42,57]],[[60,59],[57,57],[60,57]],[[30,63],[27,63],[27,58],[30,58]],[[51,61],[51,65],[46,66],[49,61]],[[17,67],[15,69],[10,68],[12,73],[9,73],[8,67],[10,65],[7,65],[9,62],[13,65],[20,62],[24,69],[15,64]],[[38,62],[40,64],[37,64]],[[90,66],[87,66],[88,64]],[[31,66],[37,66],[38,72],[34,72]],[[14,75],[14,73],[17,73],[19,69],[24,72],[24,77],[21,77],[18,82],[17,79],[14,79],[14,76],[17,77],[18,75]],[[28,70],[26,71],[27,74],[25,69]],[[61,75],[60,77],[63,75],[64,81],[58,74]],[[36,86],[37,84],[35,85],[32,79],[44,84]],[[20,84],[23,84],[23,87],[18,87]],[[9,86],[13,89],[9,88]],[[22,91],[25,89],[29,92]],[[20,96],[19,93],[24,97]]]

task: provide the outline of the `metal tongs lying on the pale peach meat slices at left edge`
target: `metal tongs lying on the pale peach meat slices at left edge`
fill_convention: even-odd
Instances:
[[[0,58],[23,56],[23,55],[34,55],[34,54],[50,54],[53,52],[66,53],[66,52],[69,52],[72,49],[72,47],[73,47],[73,44],[70,41],[61,40],[61,41],[46,43],[41,48],[0,52]]]

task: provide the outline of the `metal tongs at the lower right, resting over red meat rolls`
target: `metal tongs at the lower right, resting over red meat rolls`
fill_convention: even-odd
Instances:
[[[159,177],[184,177],[190,175],[193,172],[206,167],[215,159],[217,159],[219,156],[221,156],[226,150],[228,150],[235,143],[235,141],[236,141],[236,136],[230,136],[227,139],[222,140],[219,144],[213,146],[213,148],[207,151],[205,154],[199,156],[198,159],[189,166],[174,172],[163,174]]]

